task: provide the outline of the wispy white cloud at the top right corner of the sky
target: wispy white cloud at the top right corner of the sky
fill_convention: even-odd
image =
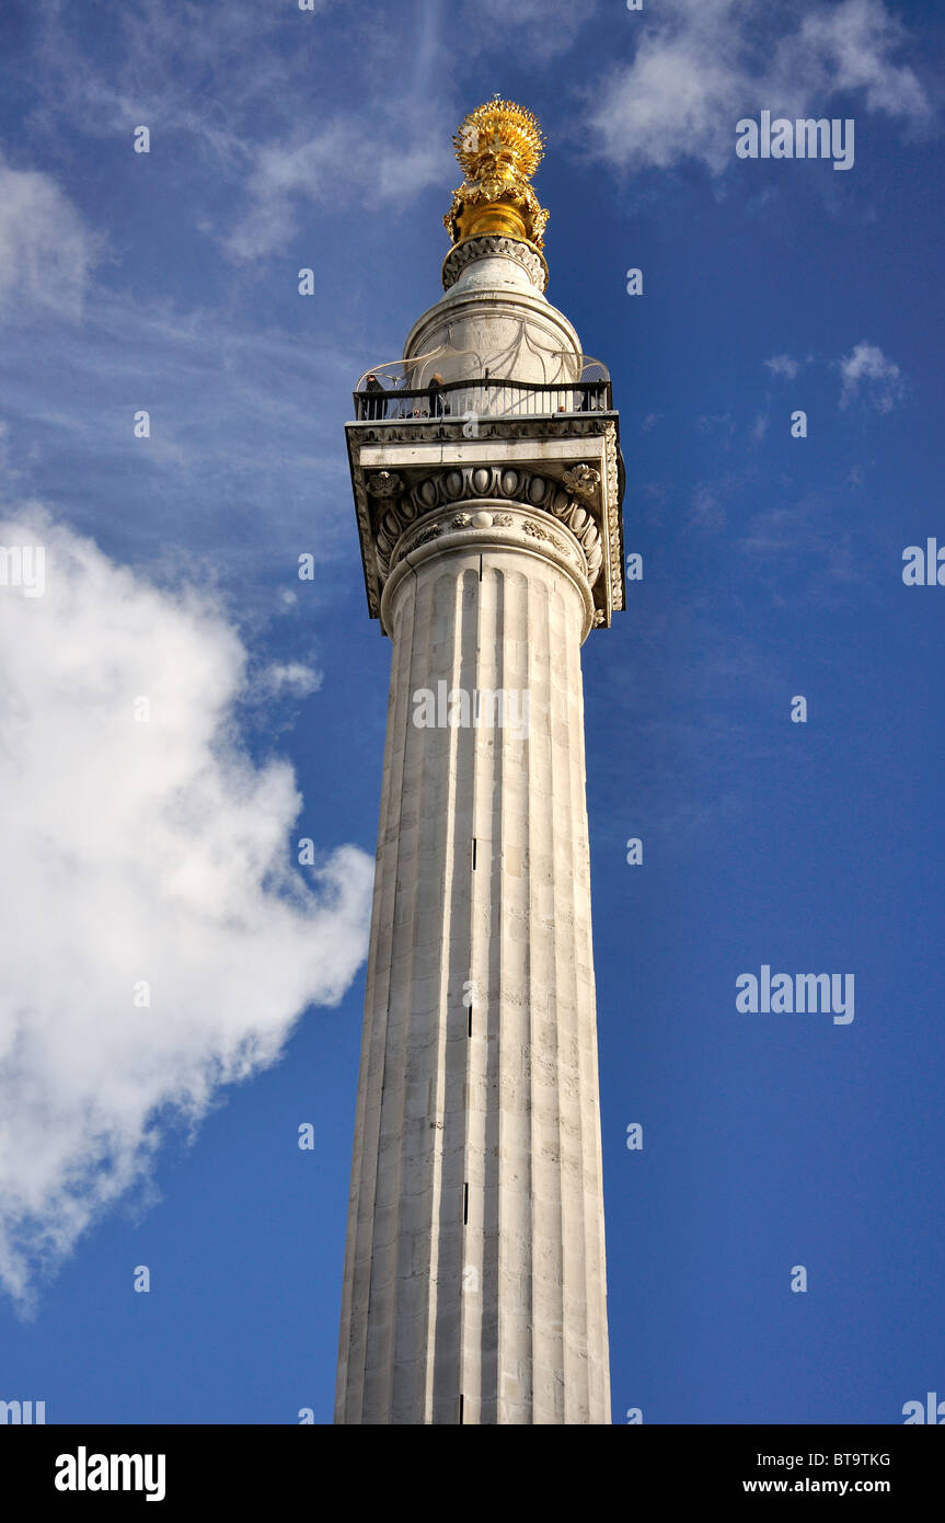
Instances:
[[[767,9],[767,8],[765,8]],[[633,62],[595,94],[598,154],[621,168],[667,169],[702,160],[720,174],[733,160],[735,123],[762,108],[819,113],[837,91],[864,91],[867,111],[916,126],[931,105],[916,73],[893,61],[905,29],[884,0],[842,0],[808,12],[778,41],[761,38],[747,0],[663,0],[653,8]]]

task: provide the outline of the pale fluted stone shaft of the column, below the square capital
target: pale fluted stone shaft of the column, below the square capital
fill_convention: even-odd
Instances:
[[[385,591],[339,1422],[610,1421],[590,599],[566,530],[551,550],[528,504],[476,506],[463,532],[441,515]],[[504,722],[476,726],[476,694],[496,691]]]

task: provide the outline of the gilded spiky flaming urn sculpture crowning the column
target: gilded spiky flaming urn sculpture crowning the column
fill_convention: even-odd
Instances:
[[[492,233],[542,248],[548,212],[528,181],[545,137],[531,111],[493,97],[463,117],[453,145],[466,175],[443,218],[453,244]]]

